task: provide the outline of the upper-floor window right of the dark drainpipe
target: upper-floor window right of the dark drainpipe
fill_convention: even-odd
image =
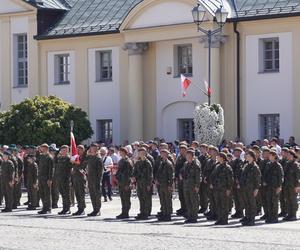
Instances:
[[[278,72],[279,71],[279,39],[264,38],[260,41],[261,63],[260,71]]]

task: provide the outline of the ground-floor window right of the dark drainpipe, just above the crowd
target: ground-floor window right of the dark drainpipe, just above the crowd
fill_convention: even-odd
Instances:
[[[280,136],[280,116],[279,114],[259,115],[260,137],[261,139],[271,139]]]

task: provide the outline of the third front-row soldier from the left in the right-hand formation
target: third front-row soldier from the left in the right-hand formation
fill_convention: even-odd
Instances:
[[[163,149],[160,151],[160,154],[162,161],[156,175],[156,186],[161,205],[161,214],[157,217],[159,221],[171,221],[174,170],[172,162],[168,160],[170,152],[167,149]]]

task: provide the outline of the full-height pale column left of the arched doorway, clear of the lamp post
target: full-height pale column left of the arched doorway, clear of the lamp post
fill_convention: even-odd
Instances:
[[[148,49],[147,43],[126,43],[128,51],[128,140],[143,140],[143,52]]]

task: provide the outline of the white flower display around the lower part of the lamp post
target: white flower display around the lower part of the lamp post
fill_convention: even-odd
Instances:
[[[194,111],[195,139],[200,143],[218,146],[224,136],[224,111],[220,104],[207,103]]]

